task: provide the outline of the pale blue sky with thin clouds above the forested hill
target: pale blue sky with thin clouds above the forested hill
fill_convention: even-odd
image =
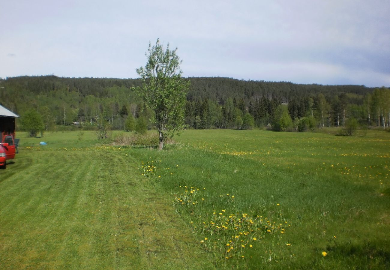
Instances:
[[[389,87],[388,14],[388,0],[2,0],[0,78],[137,78],[160,38],[186,77]]]

